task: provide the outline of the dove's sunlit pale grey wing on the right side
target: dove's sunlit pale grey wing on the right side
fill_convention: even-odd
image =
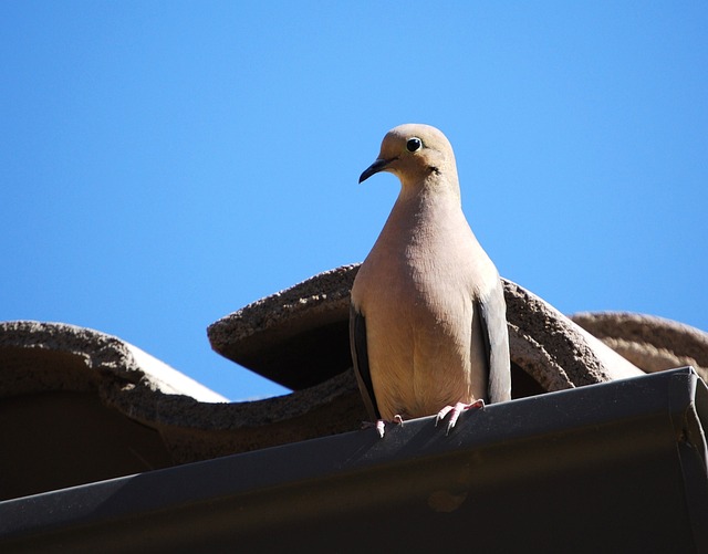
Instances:
[[[497,279],[497,284],[489,294],[479,299],[478,306],[489,355],[489,401],[510,400],[509,331],[507,330],[507,304],[500,279]]]

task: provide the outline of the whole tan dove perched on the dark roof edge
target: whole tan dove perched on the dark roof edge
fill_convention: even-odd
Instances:
[[[351,291],[354,372],[372,422],[461,412],[511,398],[509,333],[497,268],[462,212],[452,146],[436,127],[384,137],[358,182],[387,171],[400,190]]]

